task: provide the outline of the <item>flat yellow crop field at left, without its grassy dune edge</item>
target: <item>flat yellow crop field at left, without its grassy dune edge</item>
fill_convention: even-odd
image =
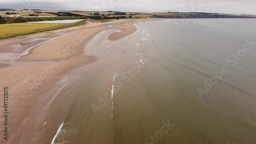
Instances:
[[[9,37],[11,35],[19,35],[23,33],[33,33],[44,29],[51,29],[62,24],[37,24],[37,23],[11,23],[0,25],[1,37]]]

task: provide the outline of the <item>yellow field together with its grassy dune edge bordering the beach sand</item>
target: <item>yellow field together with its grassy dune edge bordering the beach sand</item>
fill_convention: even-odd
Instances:
[[[0,25],[0,39],[34,34],[44,31],[84,25],[86,21],[78,21],[69,24],[37,24],[37,23],[11,23]]]

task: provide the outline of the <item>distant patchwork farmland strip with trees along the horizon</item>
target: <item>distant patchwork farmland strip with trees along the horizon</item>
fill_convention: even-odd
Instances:
[[[219,14],[219,13],[180,13],[180,12],[162,12],[162,13],[143,13],[143,12],[124,12],[116,14],[113,11],[42,11],[42,10],[25,10],[25,11],[0,11],[0,16],[7,16],[6,13],[15,13],[9,15],[21,16],[49,16],[49,17],[84,17],[91,19],[108,19],[108,17],[123,17],[129,18],[255,18],[254,15],[232,15],[232,14]],[[117,18],[118,19],[118,18]]]

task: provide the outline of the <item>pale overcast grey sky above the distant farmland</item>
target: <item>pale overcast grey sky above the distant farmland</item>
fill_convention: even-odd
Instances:
[[[212,12],[256,15],[255,0],[0,0],[0,9]]]

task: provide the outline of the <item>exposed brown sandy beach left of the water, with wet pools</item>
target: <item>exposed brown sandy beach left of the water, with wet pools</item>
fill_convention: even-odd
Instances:
[[[9,138],[8,143],[49,143],[57,127],[51,127],[47,139],[42,139],[47,124],[46,115],[37,113],[54,108],[50,88],[65,81],[63,77],[75,68],[97,61],[96,56],[84,54],[84,46],[99,32],[119,29],[109,36],[119,40],[136,31],[134,23],[144,20],[117,20],[90,23],[75,28],[42,32],[0,41],[0,87],[9,89]],[[106,27],[113,25],[113,27]],[[86,47],[85,47],[86,49]],[[3,95],[1,90],[0,95]],[[0,103],[3,102],[0,98]],[[3,107],[0,108],[3,111]],[[56,115],[59,116],[59,115]],[[61,115],[60,115],[61,116]],[[0,123],[4,122],[3,116]],[[49,129],[49,127],[47,128]],[[44,141],[44,142],[42,142]],[[0,143],[5,143],[0,139]]]

